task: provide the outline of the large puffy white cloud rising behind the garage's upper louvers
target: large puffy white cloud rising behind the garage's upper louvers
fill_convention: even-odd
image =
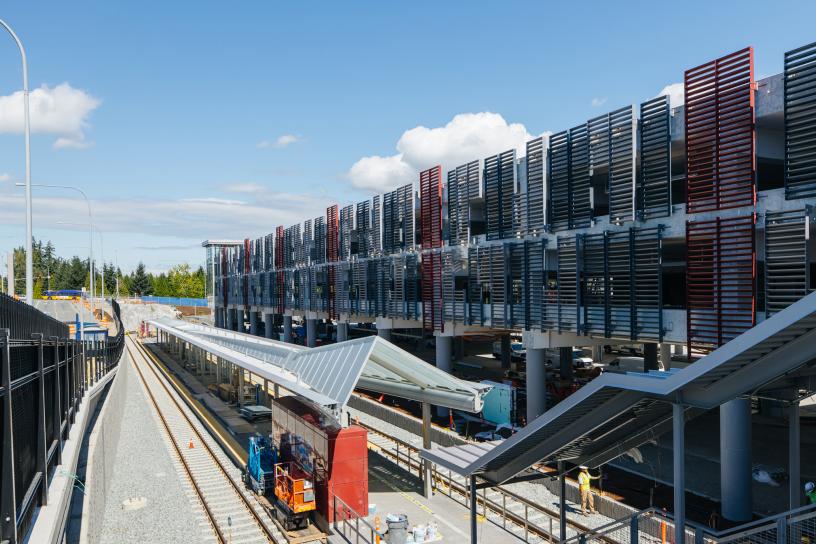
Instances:
[[[397,153],[358,160],[348,172],[351,184],[382,192],[412,183],[420,170],[441,164],[443,171],[474,159],[516,149],[534,138],[521,123],[508,123],[498,113],[460,113],[443,127],[406,130],[397,142]]]

